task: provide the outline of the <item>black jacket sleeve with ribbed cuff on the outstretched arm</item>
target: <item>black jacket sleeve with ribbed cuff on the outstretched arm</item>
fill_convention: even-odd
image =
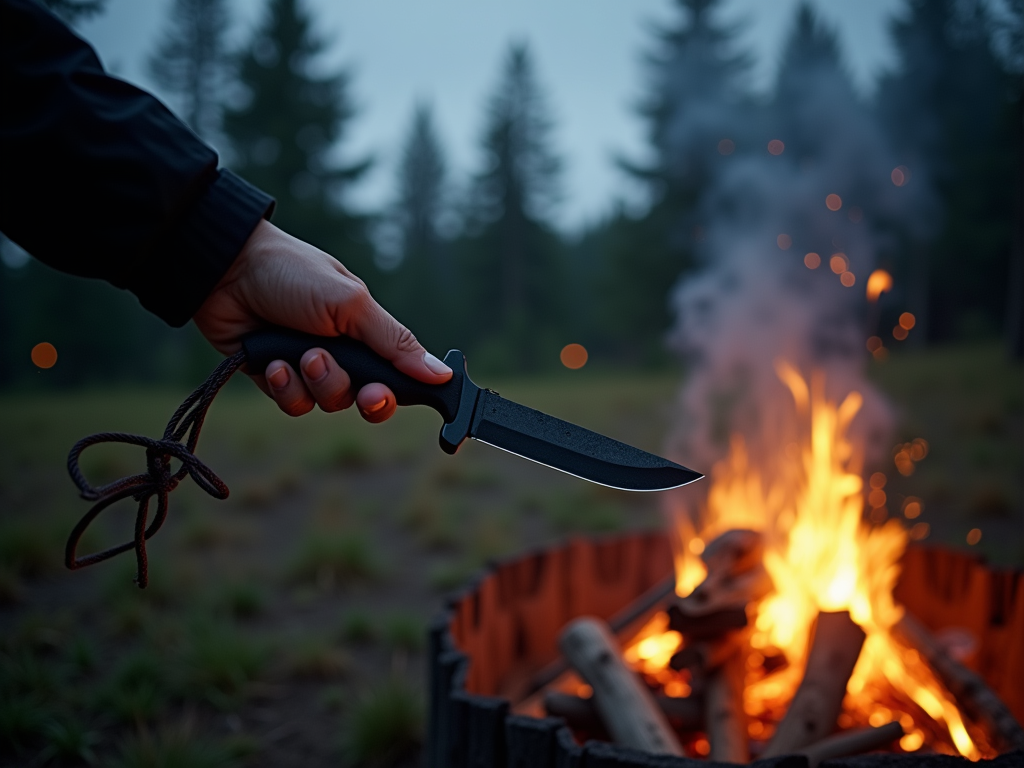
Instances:
[[[0,231],[182,326],[273,201],[34,0],[0,0]]]

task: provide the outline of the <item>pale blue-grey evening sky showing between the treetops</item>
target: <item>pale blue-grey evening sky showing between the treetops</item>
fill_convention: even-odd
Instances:
[[[617,156],[642,158],[644,125],[634,106],[643,92],[641,56],[651,26],[674,17],[674,0],[305,0],[329,41],[326,66],[353,74],[359,115],[348,155],[372,154],[374,171],[351,203],[379,208],[393,195],[395,161],[414,105],[426,100],[456,181],[479,161],[483,106],[512,41],[529,44],[555,119],[553,140],[565,162],[564,202],[553,218],[564,230],[601,216],[638,190],[615,168]],[[725,0],[723,18],[742,25],[755,55],[754,84],[770,86],[799,0]],[[228,0],[241,42],[263,0]],[[857,87],[894,66],[889,18],[901,0],[811,0],[839,32]],[[108,69],[160,95],[145,72],[172,0],[108,0],[82,23]]]

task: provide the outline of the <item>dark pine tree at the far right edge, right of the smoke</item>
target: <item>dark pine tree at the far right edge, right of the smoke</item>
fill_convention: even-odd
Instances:
[[[990,30],[981,0],[908,0],[892,26],[899,63],[879,88],[910,183],[931,184],[942,208],[902,264],[931,340],[994,335],[1006,317],[1021,86]]]

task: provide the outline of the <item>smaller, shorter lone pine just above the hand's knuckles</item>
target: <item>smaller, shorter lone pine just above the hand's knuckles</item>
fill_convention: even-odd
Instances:
[[[430,108],[416,108],[401,154],[390,223],[400,262],[393,275],[392,311],[428,348],[451,342],[449,299],[454,273],[439,224],[444,214],[445,161]]]

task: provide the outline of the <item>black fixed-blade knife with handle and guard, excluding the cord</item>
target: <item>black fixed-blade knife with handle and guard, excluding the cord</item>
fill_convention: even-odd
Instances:
[[[703,475],[668,459],[520,406],[469,378],[458,349],[444,355],[453,376],[444,384],[424,384],[398,371],[366,344],[347,336],[312,336],[285,329],[257,331],[242,341],[250,371],[285,360],[296,371],[313,347],[326,349],[345,370],[353,389],[380,382],[399,406],[428,406],[444,420],[441,450],[455,454],[471,438],[585,480],[622,490],[667,490]]]

